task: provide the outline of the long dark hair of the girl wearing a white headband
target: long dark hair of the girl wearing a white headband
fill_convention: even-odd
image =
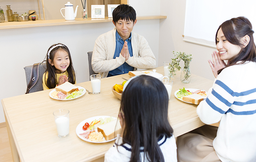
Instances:
[[[61,43],[58,43],[58,44],[54,44],[52,45],[48,51],[55,45],[63,45]],[[58,47],[55,47],[54,49],[52,49],[52,51],[50,51],[50,55],[49,55],[49,58],[53,61],[54,59],[54,56],[55,56],[55,53],[59,50],[63,50],[63,51],[66,51],[68,53],[68,57],[69,57],[69,66],[67,67],[67,73],[68,73],[68,81],[72,84],[75,84],[76,83],[76,74],[75,74],[75,71],[74,71],[74,67],[73,67],[73,64],[72,64],[72,59],[71,59],[71,55],[70,55],[70,52],[69,52],[69,49],[67,48],[66,45],[63,45],[63,46],[58,46]],[[52,88],[55,88],[56,85],[57,85],[57,82],[56,82],[56,68],[55,66],[52,66],[49,62],[48,62],[48,51],[47,51],[47,54],[46,54],[46,72],[48,72],[48,79],[46,81],[46,86],[50,89]],[[46,80],[46,78],[44,78]]]

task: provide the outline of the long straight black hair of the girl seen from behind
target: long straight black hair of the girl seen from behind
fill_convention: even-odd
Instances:
[[[131,145],[130,162],[140,161],[140,147],[150,162],[164,162],[158,138],[172,136],[168,121],[168,93],[161,81],[142,75],[124,90],[119,113],[124,116],[123,144]],[[145,159],[145,157],[144,157]]]

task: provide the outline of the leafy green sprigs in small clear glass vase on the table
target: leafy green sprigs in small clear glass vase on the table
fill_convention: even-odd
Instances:
[[[184,61],[184,68],[181,72],[181,81],[182,83],[189,83],[190,81],[190,77],[191,77],[191,72],[190,72],[190,68],[189,68],[189,64],[192,60],[192,55],[191,54],[186,54],[185,52],[175,52],[172,51],[172,53],[174,54],[175,58],[171,59],[171,64],[169,65],[168,69],[170,71],[170,77],[174,78],[174,76],[176,75],[176,72],[180,69],[180,61],[183,60]]]

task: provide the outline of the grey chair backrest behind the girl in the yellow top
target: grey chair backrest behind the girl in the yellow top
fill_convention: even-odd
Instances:
[[[33,65],[24,67],[25,74],[26,74],[27,86],[28,86],[28,83],[30,81],[32,66]],[[39,77],[38,77],[37,83],[30,89],[30,91],[28,93],[43,90],[43,73],[44,72],[46,72],[46,63],[40,64],[40,66],[39,66]]]

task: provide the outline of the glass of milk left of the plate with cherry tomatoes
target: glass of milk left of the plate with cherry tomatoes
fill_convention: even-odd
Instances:
[[[66,109],[59,109],[53,112],[55,124],[59,137],[66,137],[69,135],[69,111]]]

